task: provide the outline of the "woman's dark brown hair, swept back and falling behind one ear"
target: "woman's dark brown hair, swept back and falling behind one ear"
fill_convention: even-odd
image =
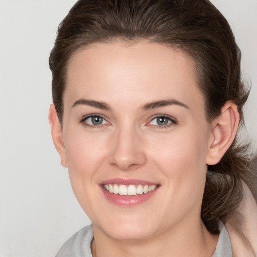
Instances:
[[[194,59],[208,121],[231,100],[242,123],[248,92],[241,81],[240,50],[228,22],[208,0],[78,1],[61,22],[49,58],[53,102],[61,123],[71,56],[95,42],[143,39],[179,48]],[[201,217],[213,234],[219,233],[219,219],[225,223],[241,201],[241,180],[252,188],[245,149],[235,139],[222,160],[208,167]]]

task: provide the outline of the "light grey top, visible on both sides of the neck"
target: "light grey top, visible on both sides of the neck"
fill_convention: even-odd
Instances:
[[[220,234],[215,252],[211,257],[232,257],[232,246],[227,230],[222,222],[219,224]],[[91,242],[94,238],[92,225],[81,228],[68,239],[56,257],[92,257]]]

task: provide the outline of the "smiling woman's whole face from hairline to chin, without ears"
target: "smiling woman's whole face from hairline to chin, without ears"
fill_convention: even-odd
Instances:
[[[199,223],[213,137],[190,57],[93,44],[72,57],[63,100],[62,162],[95,228],[133,240]]]

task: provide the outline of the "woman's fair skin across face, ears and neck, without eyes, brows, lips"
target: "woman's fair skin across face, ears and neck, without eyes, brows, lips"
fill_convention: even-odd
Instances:
[[[74,105],[80,99],[104,102],[109,109]],[[170,99],[186,107],[142,108]],[[50,107],[52,136],[92,221],[93,256],[211,256],[218,236],[200,218],[207,164],[226,152],[239,116],[228,101],[207,122],[193,60],[146,41],[93,44],[71,58],[63,102],[62,128]],[[104,117],[103,124],[81,122],[90,114]],[[158,125],[157,115],[168,115],[169,126]],[[144,203],[118,206],[99,187],[117,177],[161,186]]]

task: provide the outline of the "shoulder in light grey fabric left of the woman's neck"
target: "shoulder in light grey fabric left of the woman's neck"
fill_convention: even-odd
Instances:
[[[92,257],[91,241],[93,238],[92,225],[81,228],[63,244],[56,257]]]

